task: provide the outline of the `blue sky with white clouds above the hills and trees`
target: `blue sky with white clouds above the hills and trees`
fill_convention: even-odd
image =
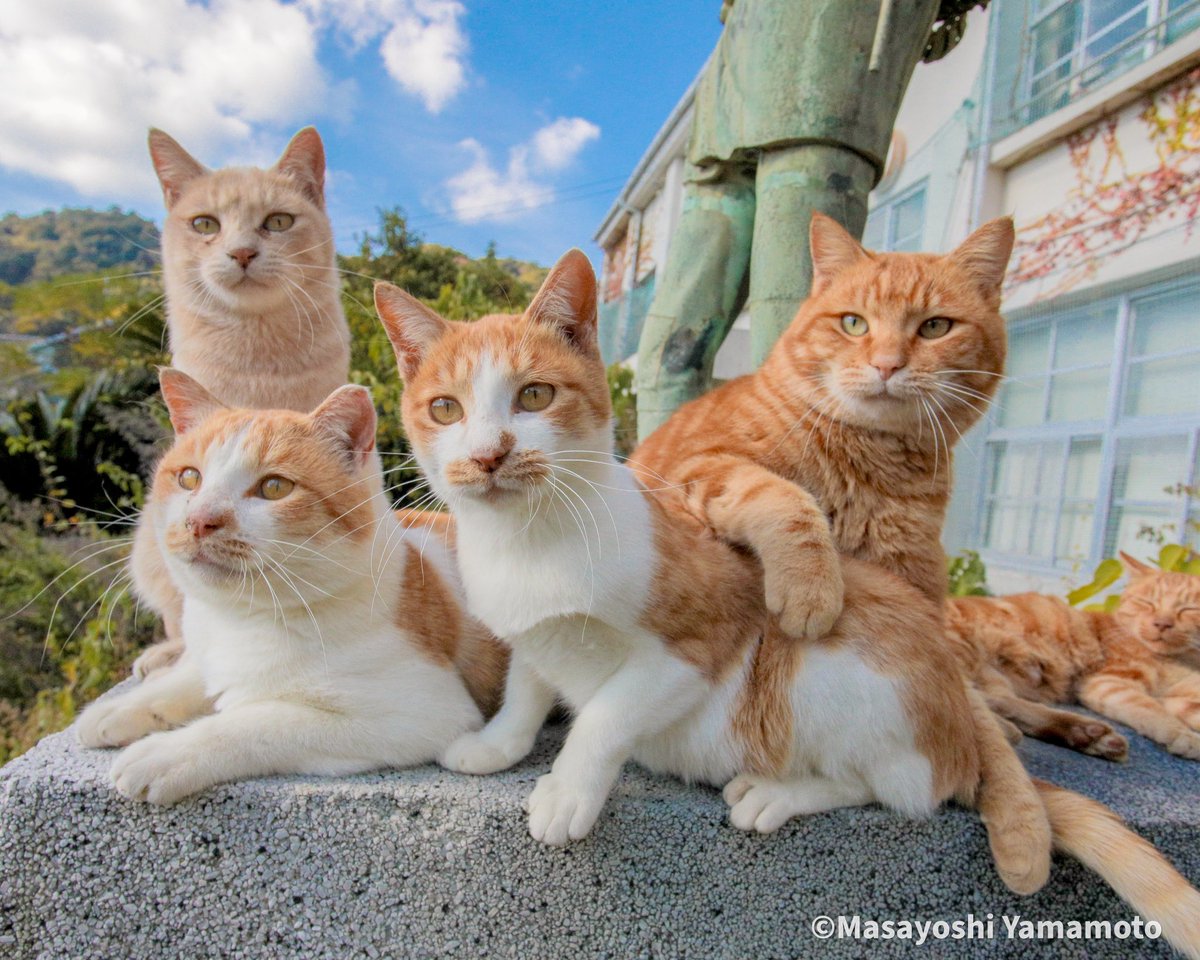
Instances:
[[[592,234],[720,32],[718,0],[37,0],[0,19],[0,211],[161,222],[160,126],[209,166],[314,124],[341,250],[426,239],[552,262]]]

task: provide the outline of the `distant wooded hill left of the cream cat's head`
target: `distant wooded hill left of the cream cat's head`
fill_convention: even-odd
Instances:
[[[0,218],[0,282],[12,286],[91,274],[158,266],[158,228],[137,214],[47,210]]]

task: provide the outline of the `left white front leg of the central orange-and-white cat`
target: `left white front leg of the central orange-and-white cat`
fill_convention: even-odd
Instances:
[[[500,709],[482,730],[463,733],[451,743],[438,757],[438,763],[458,773],[508,769],[528,756],[553,706],[554,691],[514,652],[509,658]]]

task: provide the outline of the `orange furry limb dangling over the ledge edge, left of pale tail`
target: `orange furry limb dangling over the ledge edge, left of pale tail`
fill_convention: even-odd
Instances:
[[[996,715],[970,684],[967,700],[979,752],[979,781],[971,805],[988,829],[1000,878],[1014,893],[1036,893],[1050,877],[1054,845],[1045,804]]]

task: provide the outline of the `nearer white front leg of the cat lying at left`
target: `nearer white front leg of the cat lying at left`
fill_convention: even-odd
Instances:
[[[400,733],[300,703],[251,703],[139,740],[116,757],[112,779],[130,799],[173,804],[234,780],[341,775],[432,760],[425,738],[406,744]]]

